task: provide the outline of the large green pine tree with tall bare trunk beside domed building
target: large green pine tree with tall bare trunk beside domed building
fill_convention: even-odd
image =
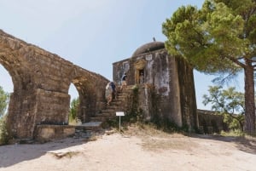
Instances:
[[[163,23],[166,48],[220,83],[244,71],[245,131],[255,131],[255,0],[206,0],[201,9],[180,7]],[[216,81],[215,80],[215,81]]]

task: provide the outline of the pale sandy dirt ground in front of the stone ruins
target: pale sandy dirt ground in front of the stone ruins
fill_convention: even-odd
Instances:
[[[149,130],[148,130],[149,129]],[[256,171],[256,140],[131,127],[90,140],[0,146],[0,171]]]

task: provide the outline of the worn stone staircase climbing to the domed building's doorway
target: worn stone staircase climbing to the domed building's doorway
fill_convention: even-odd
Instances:
[[[132,85],[127,86],[127,88],[122,91],[118,91],[116,98],[111,101],[110,105],[106,105],[105,109],[102,109],[102,111],[97,113],[94,117],[90,117],[89,123],[76,126],[76,134],[101,131],[102,123],[106,122],[107,119],[116,118],[116,111],[125,110],[125,100],[127,95],[131,93],[132,87]]]

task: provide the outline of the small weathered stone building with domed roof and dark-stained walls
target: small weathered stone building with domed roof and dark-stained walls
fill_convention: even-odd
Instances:
[[[161,42],[146,43],[131,58],[113,63],[113,81],[139,88],[138,107],[145,120],[155,118],[179,127],[198,128],[193,68],[167,53]]]

